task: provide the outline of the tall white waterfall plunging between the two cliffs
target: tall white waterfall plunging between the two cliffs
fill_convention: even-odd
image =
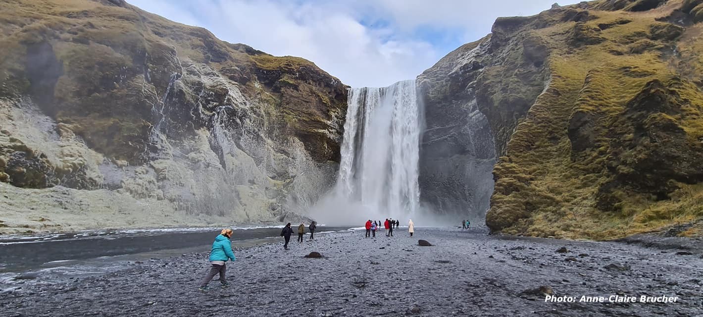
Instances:
[[[336,212],[333,220],[406,221],[418,212],[419,118],[414,80],[349,91],[342,160],[331,200],[337,206],[342,200],[350,209]]]

